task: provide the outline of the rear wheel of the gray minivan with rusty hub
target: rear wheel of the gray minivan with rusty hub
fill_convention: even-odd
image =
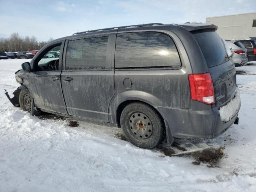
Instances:
[[[122,111],[120,124],[127,140],[140,148],[155,148],[164,139],[164,123],[158,112],[148,104],[128,104]]]

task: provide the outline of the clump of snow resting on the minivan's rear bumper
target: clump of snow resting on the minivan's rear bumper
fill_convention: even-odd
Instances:
[[[228,104],[220,108],[220,119],[224,122],[229,121],[238,112],[240,105],[240,90],[237,88],[235,97]]]

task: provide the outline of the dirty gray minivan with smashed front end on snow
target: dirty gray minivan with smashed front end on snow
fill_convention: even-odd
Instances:
[[[78,32],[46,44],[16,72],[9,100],[121,127],[141,148],[214,138],[238,124],[236,69],[210,24],[143,24]],[[59,57],[44,58],[60,50]],[[232,100],[232,102],[230,102]]]

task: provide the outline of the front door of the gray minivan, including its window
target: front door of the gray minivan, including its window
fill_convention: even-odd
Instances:
[[[67,114],[60,81],[63,48],[64,41],[45,48],[34,60],[33,72],[28,74],[28,78],[36,107]],[[49,52],[60,54],[55,57]]]

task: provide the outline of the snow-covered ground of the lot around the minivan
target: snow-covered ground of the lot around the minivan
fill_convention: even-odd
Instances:
[[[12,106],[4,89],[12,95],[26,61],[0,60],[0,192],[256,191],[256,63],[237,68],[248,73],[237,75],[239,125],[213,140],[144,150],[118,128]]]

